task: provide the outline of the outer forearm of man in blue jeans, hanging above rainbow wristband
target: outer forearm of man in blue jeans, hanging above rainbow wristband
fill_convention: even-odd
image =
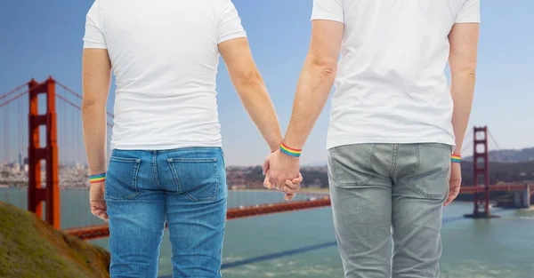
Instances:
[[[82,121],[89,172],[90,175],[98,175],[107,170],[105,103],[84,103]]]

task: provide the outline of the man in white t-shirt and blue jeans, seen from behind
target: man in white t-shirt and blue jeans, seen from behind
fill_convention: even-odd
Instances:
[[[227,197],[215,99],[220,54],[271,151],[282,141],[234,5],[96,0],[84,41],[91,210],[109,220],[111,277],[156,277],[166,223],[174,277],[220,277]],[[107,166],[111,69],[117,91]],[[301,181],[287,181],[287,200]]]

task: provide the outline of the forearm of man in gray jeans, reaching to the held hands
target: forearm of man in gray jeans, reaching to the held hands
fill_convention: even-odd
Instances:
[[[336,62],[323,64],[307,59],[299,78],[293,113],[284,143],[301,149],[317,121],[336,77]]]

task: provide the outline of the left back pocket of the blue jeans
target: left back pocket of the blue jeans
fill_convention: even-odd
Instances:
[[[128,200],[139,195],[137,173],[141,159],[111,156],[106,173],[106,200]]]

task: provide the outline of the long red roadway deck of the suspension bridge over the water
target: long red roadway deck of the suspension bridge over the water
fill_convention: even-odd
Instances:
[[[534,188],[534,185],[498,185],[490,186],[490,191],[520,191],[525,190],[527,187]],[[484,187],[462,187],[460,194],[474,194],[484,192]],[[328,207],[330,206],[330,198],[327,193],[303,193],[305,195],[314,196],[308,201],[294,201],[285,203],[270,203],[255,205],[242,208],[231,208],[226,213],[226,219],[237,219],[255,217],[260,215],[266,215],[271,213],[280,213],[295,210],[309,210],[314,208]],[[97,226],[84,226],[66,229],[67,234],[77,236],[84,240],[93,240],[102,237],[109,236],[109,226],[107,224]]]

